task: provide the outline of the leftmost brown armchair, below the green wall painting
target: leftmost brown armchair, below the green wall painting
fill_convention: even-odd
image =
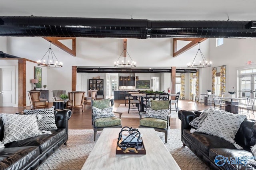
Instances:
[[[41,99],[40,95],[41,95],[40,91],[28,91],[28,97],[29,97],[31,109],[48,108],[49,103],[47,99]]]

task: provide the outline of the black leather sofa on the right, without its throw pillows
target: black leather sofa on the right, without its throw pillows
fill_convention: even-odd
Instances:
[[[231,164],[228,161],[218,162],[215,164],[215,158],[218,155],[228,157],[228,159],[236,159],[240,156],[253,156],[251,146],[256,144],[256,121],[252,119],[245,119],[236,134],[235,142],[242,146],[244,150],[238,150],[234,144],[209,134],[200,132],[190,133],[193,128],[189,123],[198,117],[202,111],[180,110],[178,118],[181,120],[181,140],[184,146],[187,146],[200,158],[211,170],[254,170],[256,169],[256,162],[254,160],[243,164]],[[240,157],[242,158],[242,157]],[[247,157],[249,158],[249,157]],[[253,158],[253,157],[252,157]],[[251,159],[251,158],[250,158]]]

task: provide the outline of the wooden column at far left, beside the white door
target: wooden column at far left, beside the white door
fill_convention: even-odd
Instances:
[[[26,60],[18,60],[18,107],[26,106]]]

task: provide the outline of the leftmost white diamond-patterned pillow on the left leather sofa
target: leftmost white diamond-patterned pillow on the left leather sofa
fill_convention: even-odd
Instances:
[[[2,113],[4,124],[3,143],[14,142],[42,135],[38,129],[36,115],[16,115]]]

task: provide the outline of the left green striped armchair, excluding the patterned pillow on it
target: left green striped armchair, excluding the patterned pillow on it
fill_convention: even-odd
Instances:
[[[112,111],[113,113],[119,114],[119,118],[105,116],[100,117],[94,113],[95,108],[105,109],[111,106],[114,106],[114,99],[92,100],[92,127],[94,130],[94,141],[96,140],[97,131],[103,130],[104,128],[122,128],[122,113]],[[95,108],[93,109],[93,107]]]

